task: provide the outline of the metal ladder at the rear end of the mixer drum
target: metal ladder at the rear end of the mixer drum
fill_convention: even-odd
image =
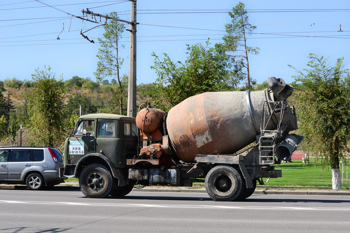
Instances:
[[[266,113],[267,113],[267,105],[268,104],[274,104],[275,107],[272,110],[271,116],[269,116],[268,120],[266,121]],[[280,117],[278,118],[277,122],[277,129],[276,130],[266,130],[266,126],[270,121],[272,121],[272,116],[275,114],[276,109],[280,105]],[[267,102],[264,103],[263,112],[261,119],[261,127],[260,127],[260,138],[259,138],[259,161],[260,165],[268,165],[268,164],[274,164],[275,163],[275,139],[278,136],[278,132],[280,130],[281,122],[283,119],[283,113],[285,110],[285,102]]]

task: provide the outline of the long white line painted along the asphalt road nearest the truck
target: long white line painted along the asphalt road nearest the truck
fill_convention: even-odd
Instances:
[[[1,204],[42,204],[42,205],[85,205],[85,206],[112,206],[112,207],[153,207],[153,208],[212,208],[212,209],[252,209],[252,210],[343,210],[344,207],[294,207],[294,206],[227,206],[227,205],[169,205],[169,204],[134,204],[134,203],[82,203],[59,201],[13,201],[0,200]]]

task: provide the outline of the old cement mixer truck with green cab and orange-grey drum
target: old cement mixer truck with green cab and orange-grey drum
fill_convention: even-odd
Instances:
[[[168,114],[150,103],[136,118],[80,116],[64,144],[64,176],[79,178],[89,198],[121,197],[135,184],[192,186],[204,182],[215,201],[245,199],[263,178],[281,177],[302,140],[293,87],[275,77],[263,91],[206,92]]]

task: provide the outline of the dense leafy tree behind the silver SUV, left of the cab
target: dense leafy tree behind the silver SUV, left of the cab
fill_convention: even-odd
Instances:
[[[33,88],[26,93],[31,105],[28,126],[29,133],[34,136],[30,142],[32,146],[54,146],[63,139],[62,132],[66,128],[66,88],[56,81],[50,70],[50,66],[36,69],[31,75]]]

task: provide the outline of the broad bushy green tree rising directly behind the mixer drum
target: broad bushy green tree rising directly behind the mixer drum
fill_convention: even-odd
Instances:
[[[156,70],[158,78],[147,95],[156,107],[168,111],[190,96],[222,89],[227,76],[225,57],[209,44],[208,40],[206,47],[187,45],[188,57],[184,63],[173,62],[166,53],[161,61],[153,52],[151,68]]]

